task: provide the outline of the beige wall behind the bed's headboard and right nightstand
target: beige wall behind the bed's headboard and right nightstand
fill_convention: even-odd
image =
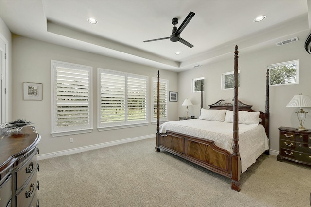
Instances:
[[[270,142],[271,150],[279,151],[278,127],[297,127],[299,122],[295,111],[298,108],[287,108],[286,105],[294,95],[303,93],[311,96],[311,56],[304,50],[305,36],[299,37],[300,41],[283,46],[273,46],[256,53],[244,53],[239,49],[239,70],[241,71],[241,87],[239,100],[245,104],[253,105],[254,110],[265,112],[265,87],[267,66],[275,63],[300,60],[300,83],[287,86],[270,86]],[[179,99],[189,98],[194,104],[190,107],[190,115],[199,115],[200,94],[191,92],[191,80],[205,77],[204,107],[220,99],[231,102],[233,90],[221,90],[221,75],[233,71],[232,58],[202,66],[178,74]],[[182,84],[181,84],[182,83]],[[305,121],[305,127],[311,129],[311,108]],[[178,114],[184,115],[185,108],[178,105]]]

